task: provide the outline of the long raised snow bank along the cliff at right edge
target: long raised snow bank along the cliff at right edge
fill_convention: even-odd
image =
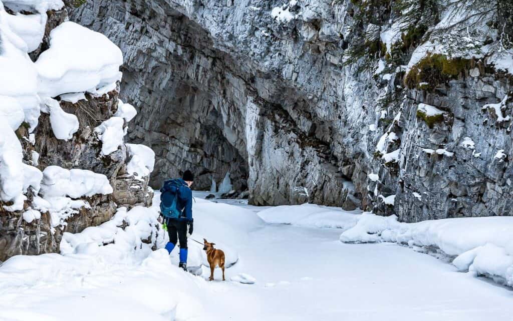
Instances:
[[[486,275],[513,286],[513,217],[462,217],[400,223],[397,216],[363,213],[353,228],[343,232],[345,243],[396,242],[436,247],[460,271]]]

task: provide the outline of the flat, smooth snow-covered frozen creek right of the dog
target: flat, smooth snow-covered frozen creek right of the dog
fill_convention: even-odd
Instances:
[[[251,233],[241,263],[254,285],[215,284],[226,320],[510,320],[513,292],[395,244],[343,244],[340,230],[268,225]],[[216,271],[219,273],[219,271]],[[216,274],[219,279],[219,274]],[[244,288],[258,298],[241,300]],[[229,311],[229,312],[228,312]]]

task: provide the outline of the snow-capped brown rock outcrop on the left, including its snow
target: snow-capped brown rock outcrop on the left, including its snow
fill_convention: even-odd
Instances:
[[[0,1],[0,262],[58,252],[64,232],[151,204],[149,171],[126,170],[122,53],[66,19],[61,0]],[[94,130],[111,119],[114,143]]]

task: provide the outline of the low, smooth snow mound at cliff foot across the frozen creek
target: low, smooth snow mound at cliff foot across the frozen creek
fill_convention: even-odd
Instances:
[[[258,213],[271,224],[291,224],[305,227],[338,228],[347,230],[358,220],[358,212],[347,212],[313,204],[284,205],[272,207]]]

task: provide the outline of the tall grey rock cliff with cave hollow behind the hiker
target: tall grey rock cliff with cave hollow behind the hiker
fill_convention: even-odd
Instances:
[[[193,168],[195,188],[229,171],[256,205],[360,207],[407,222],[510,215],[513,83],[489,49],[502,40],[476,31],[481,53],[465,51],[467,22],[447,18],[455,10],[100,0],[71,19],[124,52],[121,96],[139,110],[130,139],[155,150],[154,187]],[[506,16],[469,18],[469,30]],[[461,52],[426,55],[449,41]],[[503,100],[500,117],[482,108]]]

